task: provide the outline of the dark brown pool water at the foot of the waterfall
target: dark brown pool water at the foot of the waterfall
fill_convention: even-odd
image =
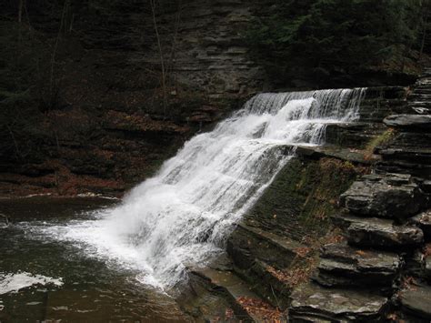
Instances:
[[[37,237],[31,229],[91,217],[92,210],[113,203],[95,198],[0,200],[0,213],[11,219],[9,227],[0,227],[0,290],[5,275],[23,272],[63,282],[0,293],[1,322],[192,320],[174,298],[136,282],[133,270],[86,257],[72,244]]]

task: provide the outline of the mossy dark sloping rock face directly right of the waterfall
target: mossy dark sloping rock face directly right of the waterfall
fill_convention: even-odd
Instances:
[[[366,167],[336,158],[295,157],[248,212],[246,222],[296,240],[323,236],[338,197],[365,172]]]

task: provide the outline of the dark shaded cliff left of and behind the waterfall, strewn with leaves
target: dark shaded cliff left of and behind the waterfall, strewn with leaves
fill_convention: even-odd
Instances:
[[[42,53],[21,64],[43,71],[28,76],[25,107],[11,107],[19,125],[2,116],[2,195],[118,194],[262,89],[240,35],[250,2],[163,2],[154,20],[143,1],[35,1],[21,24],[17,5],[3,5],[2,35],[24,41],[2,42],[20,57]]]

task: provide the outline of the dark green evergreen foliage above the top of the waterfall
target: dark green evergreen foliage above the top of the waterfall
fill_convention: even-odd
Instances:
[[[355,68],[404,56],[417,43],[421,0],[276,0],[246,39],[274,73],[291,66]]]

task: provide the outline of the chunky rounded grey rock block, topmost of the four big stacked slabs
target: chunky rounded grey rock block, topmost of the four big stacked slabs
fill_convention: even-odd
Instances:
[[[340,203],[367,217],[405,218],[426,206],[426,197],[407,174],[366,175],[341,195]]]

